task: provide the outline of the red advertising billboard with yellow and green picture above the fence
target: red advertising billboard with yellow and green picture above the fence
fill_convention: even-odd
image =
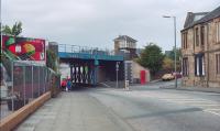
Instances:
[[[2,48],[9,56],[22,61],[46,61],[45,40],[3,35]]]

